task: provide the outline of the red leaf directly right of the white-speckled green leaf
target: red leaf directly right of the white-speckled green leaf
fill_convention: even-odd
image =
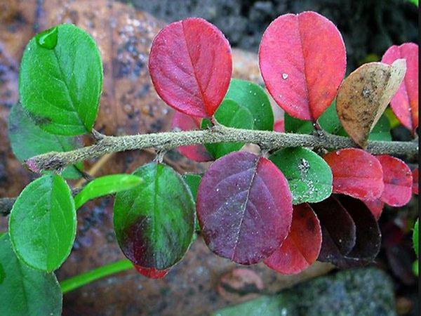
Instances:
[[[325,154],[333,173],[333,192],[357,199],[380,198],[385,185],[380,162],[368,152],[347,148]]]

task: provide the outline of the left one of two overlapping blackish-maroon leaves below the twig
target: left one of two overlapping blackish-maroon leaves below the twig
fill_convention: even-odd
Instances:
[[[312,209],[320,220],[322,235],[321,250],[317,260],[337,264],[355,246],[354,220],[333,197],[312,204]]]

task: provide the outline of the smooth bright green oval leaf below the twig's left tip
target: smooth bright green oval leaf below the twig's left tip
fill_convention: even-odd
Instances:
[[[43,176],[20,193],[9,218],[18,258],[51,272],[65,261],[76,235],[76,211],[69,186],[58,175]]]

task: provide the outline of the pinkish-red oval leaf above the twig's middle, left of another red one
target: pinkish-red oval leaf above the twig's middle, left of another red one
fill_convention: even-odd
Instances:
[[[152,42],[149,73],[168,105],[196,117],[211,117],[227,93],[231,48],[224,34],[201,18],[164,27]]]

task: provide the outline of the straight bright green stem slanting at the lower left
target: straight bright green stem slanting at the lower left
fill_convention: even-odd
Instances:
[[[109,263],[107,265],[102,265],[102,267],[81,273],[80,275],[76,275],[74,277],[70,277],[69,279],[65,279],[64,281],[60,282],[60,287],[62,289],[62,293],[65,294],[69,291],[77,289],[78,287],[83,287],[83,285],[91,283],[97,279],[101,279],[102,277],[114,275],[114,273],[129,270],[131,268],[133,268],[131,261],[128,259],[123,259]]]

